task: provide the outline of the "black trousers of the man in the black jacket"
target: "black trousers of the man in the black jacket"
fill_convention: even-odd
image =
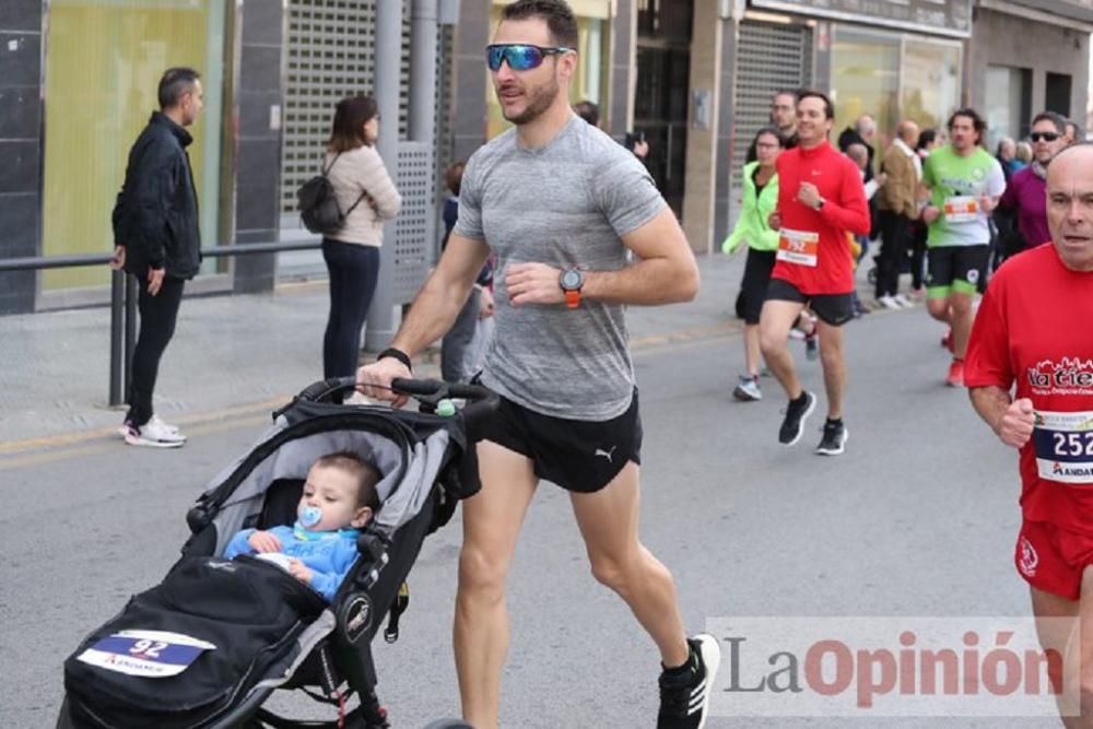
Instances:
[[[140,334],[137,336],[137,346],[133,348],[129,413],[126,415],[126,421],[137,427],[152,418],[152,392],[155,390],[155,378],[160,374],[160,357],[163,356],[163,351],[167,349],[167,343],[175,333],[178,305],[183,301],[185,285],[186,282],[181,279],[164,277],[160,292],[153,296],[148,293],[148,281],[138,282],[140,294],[137,298],[137,310],[140,311]]]

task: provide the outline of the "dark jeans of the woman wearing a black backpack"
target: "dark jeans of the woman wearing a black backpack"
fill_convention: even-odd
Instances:
[[[361,356],[361,328],[379,277],[379,248],[322,239],[330,273],[330,316],[322,338],[322,377],[350,377]]]

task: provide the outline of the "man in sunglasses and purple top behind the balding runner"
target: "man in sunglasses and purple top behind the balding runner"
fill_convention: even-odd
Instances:
[[[1004,258],[1050,239],[1047,230],[1047,165],[1067,146],[1066,119],[1054,111],[1037,114],[1032,120],[1032,164],[1013,174],[999,204],[1016,210],[1019,246],[1003,250]]]

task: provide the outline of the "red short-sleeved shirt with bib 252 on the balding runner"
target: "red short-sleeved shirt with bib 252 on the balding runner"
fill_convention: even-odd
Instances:
[[[1021,448],[1021,509],[1093,534],[1093,272],[1062,264],[1045,244],[1006,261],[975,317],[967,387],[1016,384],[1036,431]]]

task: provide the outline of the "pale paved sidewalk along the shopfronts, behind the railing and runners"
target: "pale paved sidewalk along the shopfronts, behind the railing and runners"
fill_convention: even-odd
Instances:
[[[725,333],[744,257],[701,256],[702,289],[690,304],[631,307],[636,348]],[[322,375],[325,283],[283,285],[272,294],[187,298],[160,366],[155,409],[187,422],[225,410],[269,408]],[[0,446],[101,431],[121,424],[107,407],[108,308],[0,317]],[[415,367],[438,376],[434,356]]]

